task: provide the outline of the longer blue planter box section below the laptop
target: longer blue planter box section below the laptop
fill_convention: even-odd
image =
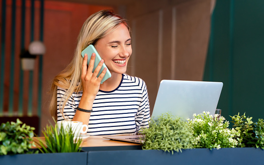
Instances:
[[[264,150],[260,148],[185,149],[183,152],[162,150],[88,151],[87,164],[263,164]]]

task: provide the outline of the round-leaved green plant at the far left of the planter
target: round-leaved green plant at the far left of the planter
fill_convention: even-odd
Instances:
[[[29,151],[33,142],[34,127],[23,124],[17,119],[17,122],[2,123],[0,126],[0,155],[33,153]]]

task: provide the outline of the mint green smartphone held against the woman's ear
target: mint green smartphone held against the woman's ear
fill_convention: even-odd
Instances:
[[[93,45],[89,45],[89,46],[87,46],[87,47],[81,52],[81,56],[84,57],[84,54],[85,54],[85,53],[86,53],[87,56],[88,56],[87,65],[89,65],[89,62],[90,62],[91,57],[92,57],[92,54],[93,54],[93,53],[96,54],[95,65],[94,65],[94,69],[93,69],[93,73],[94,73],[96,67],[98,66],[98,64],[100,63],[100,61],[102,60],[102,58],[100,57],[100,55],[98,54],[96,48],[95,48]],[[99,71],[97,77],[99,77],[99,75],[103,72],[104,68],[107,68],[105,63],[103,64],[102,68],[100,69],[100,71]],[[106,81],[106,80],[107,80],[108,78],[110,78],[110,77],[111,77],[111,73],[110,73],[110,71],[109,71],[108,68],[107,68],[107,70],[106,70],[106,74],[105,74],[104,78],[102,79],[101,84],[103,84],[103,82]]]

